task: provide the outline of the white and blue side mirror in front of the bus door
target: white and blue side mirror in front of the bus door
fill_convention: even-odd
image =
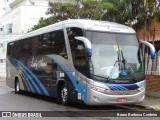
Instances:
[[[76,40],[82,41],[85,45],[85,49],[86,49],[86,53],[87,53],[87,57],[91,57],[92,55],[92,47],[91,47],[91,42],[85,38],[85,37],[74,37]]]

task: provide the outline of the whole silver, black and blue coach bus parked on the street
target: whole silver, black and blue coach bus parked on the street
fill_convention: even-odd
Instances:
[[[7,44],[8,86],[58,103],[136,104],[145,98],[145,70],[136,32],[117,23],[66,20]]]

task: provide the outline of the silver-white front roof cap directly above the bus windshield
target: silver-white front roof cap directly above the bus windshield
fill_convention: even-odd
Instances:
[[[106,32],[121,32],[121,33],[135,33],[135,31],[125,25],[100,21],[100,20],[84,20],[84,19],[73,19],[65,21],[66,27],[80,27],[86,30],[94,31],[106,31]]]

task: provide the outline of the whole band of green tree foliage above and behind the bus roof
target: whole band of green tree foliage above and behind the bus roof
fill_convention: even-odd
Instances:
[[[49,2],[46,14],[50,17],[41,18],[32,30],[53,24],[66,19],[93,19],[107,20],[126,24],[134,28],[144,25],[145,15],[148,15],[148,24],[153,16],[160,16],[157,0],[73,0],[75,2]],[[146,1],[148,4],[146,9]],[[150,11],[149,14],[146,10]],[[156,17],[157,19],[158,17]],[[154,18],[155,19],[155,18]],[[157,19],[158,20],[158,19]],[[138,22],[137,22],[138,21]]]

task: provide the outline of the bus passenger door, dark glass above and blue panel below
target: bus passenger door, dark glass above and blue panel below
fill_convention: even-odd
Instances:
[[[75,71],[75,79],[76,85],[74,86],[77,90],[77,95],[72,100],[76,100],[75,102],[83,103],[86,99],[87,89],[86,89],[86,80],[89,76],[88,71],[88,62],[86,56],[85,44],[75,39],[75,37],[81,36],[83,37],[83,30],[81,28],[67,28],[67,34],[71,49],[72,56],[72,64],[74,66]],[[73,96],[72,96],[73,97]]]

